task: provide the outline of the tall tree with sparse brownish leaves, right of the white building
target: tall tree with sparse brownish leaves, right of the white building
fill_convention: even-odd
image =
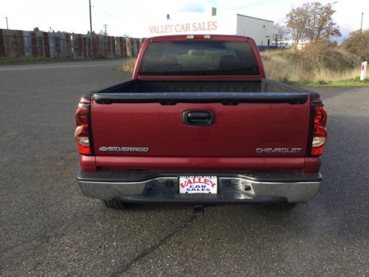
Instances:
[[[287,14],[287,27],[290,28],[294,45],[303,38],[329,40],[333,36],[341,36],[339,26],[333,22],[335,10],[332,4],[323,6],[319,2],[305,3],[293,8]]]

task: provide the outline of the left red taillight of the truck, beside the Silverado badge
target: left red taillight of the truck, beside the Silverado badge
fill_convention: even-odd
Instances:
[[[80,154],[91,154],[89,134],[89,104],[80,103],[76,112],[76,132],[74,137],[77,141]]]

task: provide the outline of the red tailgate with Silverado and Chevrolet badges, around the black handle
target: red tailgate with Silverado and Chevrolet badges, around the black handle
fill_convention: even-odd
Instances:
[[[295,102],[288,100],[291,99],[287,97],[291,95],[288,93],[280,93],[282,100],[279,101],[273,96],[253,98],[252,95],[256,93],[236,102],[231,101],[232,97],[240,99],[236,94],[229,96],[228,100],[220,96],[218,100],[216,97],[199,97],[201,101],[179,97],[174,103],[173,97],[172,101],[158,100],[160,95],[156,98],[123,97],[115,100],[111,95],[105,98],[95,95],[91,105],[95,154],[146,157],[305,156],[310,122],[308,95],[304,96],[305,101]],[[189,110],[213,112],[214,124],[184,124],[183,113]]]

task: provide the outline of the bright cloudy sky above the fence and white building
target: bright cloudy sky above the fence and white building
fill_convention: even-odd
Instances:
[[[301,6],[306,0],[91,0],[92,27],[96,33],[107,24],[110,35],[131,35],[139,26],[165,20],[170,14],[172,20],[199,16],[210,16],[211,7],[217,7],[218,15],[244,14],[253,17],[283,22],[292,7]],[[330,1],[321,1],[322,4]],[[87,33],[90,29],[88,0],[0,0],[0,28],[33,30],[39,27],[47,31]],[[341,0],[334,5],[337,11],[335,22],[344,37],[349,31],[358,30],[361,13],[364,13],[363,29],[369,28],[369,0]]]

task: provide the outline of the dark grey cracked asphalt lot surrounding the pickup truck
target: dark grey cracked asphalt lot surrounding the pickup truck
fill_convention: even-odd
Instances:
[[[0,66],[0,276],[369,276],[369,88],[318,88],[324,182],[268,206],[103,208],[79,191],[80,95],[130,78],[121,61]]]

